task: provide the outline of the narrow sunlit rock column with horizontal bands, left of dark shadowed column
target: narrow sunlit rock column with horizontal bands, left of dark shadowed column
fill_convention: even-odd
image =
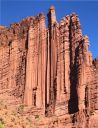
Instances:
[[[70,43],[69,43],[70,16],[65,17],[64,49],[65,49],[65,91],[67,101],[70,98]]]

